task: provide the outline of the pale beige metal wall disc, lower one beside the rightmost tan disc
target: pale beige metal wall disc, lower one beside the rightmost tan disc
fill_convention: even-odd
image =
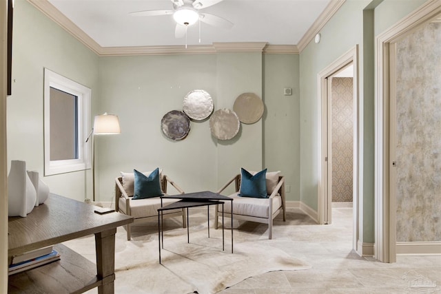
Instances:
[[[237,135],[240,128],[240,121],[236,112],[232,109],[218,109],[209,118],[209,129],[213,136],[219,140],[230,140]]]

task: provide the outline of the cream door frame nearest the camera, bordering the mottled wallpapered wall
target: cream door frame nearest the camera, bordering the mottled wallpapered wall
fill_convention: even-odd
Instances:
[[[396,160],[396,120],[393,101],[394,46],[404,34],[441,12],[441,0],[431,0],[376,38],[375,98],[375,238],[374,255],[381,262],[396,262],[396,189],[393,161]],[[392,104],[391,104],[392,101]],[[391,132],[393,134],[391,134]]]

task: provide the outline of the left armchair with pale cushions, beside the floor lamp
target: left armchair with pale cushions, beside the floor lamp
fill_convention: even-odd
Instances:
[[[147,171],[143,174],[145,176],[150,175],[152,172]],[[158,173],[159,185],[161,191],[158,196],[150,196],[149,198],[136,199],[134,197],[134,174],[123,173],[121,176],[115,178],[115,211],[124,213],[127,216],[133,216],[134,222],[142,222],[146,220],[158,221],[158,208],[161,207],[161,192],[167,193],[167,184],[170,184],[178,191],[178,193],[184,193],[183,189],[176,185],[170,177],[162,174],[162,171]],[[176,202],[174,199],[163,199],[163,206]],[[164,211],[164,218],[171,218],[174,216],[182,216],[183,227],[187,227],[185,219],[185,209],[173,209]],[[127,224],[127,240],[130,240],[130,224]]]

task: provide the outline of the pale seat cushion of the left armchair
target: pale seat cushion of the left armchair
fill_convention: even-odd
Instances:
[[[163,206],[176,202],[175,199],[163,199]],[[134,218],[148,218],[150,216],[158,216],[158,208],[161,208],[161,198],[152,197],[145,199],[132,199],[130,197],[130,215]],[[119,198],[119,210],[127,214],[125,209],[125,198]],[[164,211],[164,214],[181,212],[181,209],[171,209]]]

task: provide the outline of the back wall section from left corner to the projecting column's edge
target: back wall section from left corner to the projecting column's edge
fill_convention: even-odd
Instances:
[[[192,121],[184,140],[170,140],[161,131],[161,118],[182,110],[191,90],[207,91],[218,109],[223,98],[216,94],[216,55],[103,57],[100,85],[99,112],[117,114],[121,125],[119,135],[96,136],[101,200],[112,198],[120,171],[133,169],[160,167],[188,192],[216,188],[217,149],[208,120]]]

